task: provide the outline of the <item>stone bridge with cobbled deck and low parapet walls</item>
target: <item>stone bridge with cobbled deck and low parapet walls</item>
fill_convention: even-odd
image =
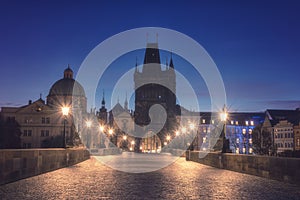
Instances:
[[[282,175],[283,179],[278,181],[280,179],[272,176],[281,175],[274,175],[270,169],[268,171],[262,164],[258,164],[259,159],[256,158],[254,162],[261,169],[256,172],[264,172],[257,176],[249,175],[255,174],[252,169],[255,164],[248,163],[245,167],[241,162],[253,162],[253,159],[245,156],[242,160],[237,159],[236,164],[225,165],[226,159],[228,162],[234,159],[221,154],[209,154],[199,159],[196,157],[198,152],[187,153],[187,160],[196,162],[169,153],[123,152],[89,157],[85,149],[10,151],[5,154],[2,151],[0,155],[0,199],[300,199],[297,182],[299,172],[290,173],[296,176],[294,179],[288,174]],[[4,163],[5,159],[9,161]],[[121,171],[103,164],[107,159],[121,166]],[[125,165],[128,160],[132,163]],[[171,164],[147,173],[128,173],[144,168],[145,165],[156,167],[161,164],[158,163],[160,161]],[[275,161],[271,162],[274,164]],[[277,161],[277,165],[280,163],[288,171],[299,169],[298,159],[292,159],[292,167],[286,160]],[[226,170],[233,165],[240,166],[244,173]],[[238,168],[232,170],[238,171]],[[4,172],[10,176],[4,177]],[[3,181],[13,176],[22,179]]]

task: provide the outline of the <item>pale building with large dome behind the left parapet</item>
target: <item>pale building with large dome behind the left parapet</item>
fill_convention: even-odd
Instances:
[[[63,116],[62,107],[70,108],[68,116]],[[4,120],[13,119],[19,124],[22,148],[40,148],[63,146],[64,133],[67,144],[79,143],[82,125],[74,122],[73,115],[85,113],[84,89],[73,79],[73,71],[68,67],[63,78],[52,85],[47,102],[40,98],[21,107],[2,107],[0,114]]]

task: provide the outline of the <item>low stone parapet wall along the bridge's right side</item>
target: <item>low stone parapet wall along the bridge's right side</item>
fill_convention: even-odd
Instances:
[[[199,151],[187,151],[186,159],[201,164],[256,175],[264,178],[284,181],[300,185],[300,159],[239,155],[229,153],[210,152],[205,157],[200,158]]]

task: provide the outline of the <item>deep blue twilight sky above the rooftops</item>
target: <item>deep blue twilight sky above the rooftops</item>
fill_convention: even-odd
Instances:
[[[0,107],[24,105],[40,93],[45,98],[68,64],[76,73],[108,37],[151,26],[182,32],[206,49],[223,77],[232,111],[295,109],[300,107],[299,10],[296,0],[2,0]],[[132,54],[126,64],[134,66],[136,56],[143,59]],[[193,75],[192,70],[184,73]],[[109,85],[100,81],[92,106],[99,108]]]

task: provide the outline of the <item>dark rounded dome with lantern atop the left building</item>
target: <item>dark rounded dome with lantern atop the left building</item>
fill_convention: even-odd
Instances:
[[[83,87],[76,80],[73,79],[73,71],[68,67],[64,71],[64,78],[56,81],[48,96],[84,96]]]

